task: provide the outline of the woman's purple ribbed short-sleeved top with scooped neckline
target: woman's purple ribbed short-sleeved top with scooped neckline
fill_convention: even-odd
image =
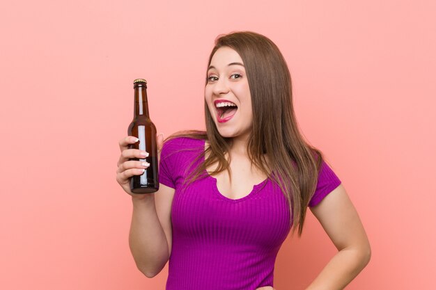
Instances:
[[[175,188],[171,209],[173,245],[166,290],[237,290],[273,286],[274,261],[290,232],[290,211],[280,188],[266,179],[238,200],[219,193],[217,179],[186,188],[189,164],[205,141],[175,138],[164,143],[159,182]],[[322,164],[309,206],[341,181]]]

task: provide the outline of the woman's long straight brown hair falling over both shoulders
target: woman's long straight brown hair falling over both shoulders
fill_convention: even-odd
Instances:
[[[290,225],[294,225],[293,232],[298,228],[298,234],[301,235],[306,209],[316,190],[323,156],[299,132],[288,65],[279,48],[269,38],[242,31],[220,35],[215,40],[207,67],[220,47],[237,51],[247,73],[254,116],[247,144],[251,163],[281,188],[288,200]],[[204,162],[192,170],[189,183],[201,178],[206,168],[215,163],[218,166],[210,175],[224,170],[230,175],[230,163],[225,154],[229,152],[232,140],[219,134],[206,103],[205,122],[205,132],[183,131],[171,136],[204,139],[210,144],[196,159],[203,159]]]

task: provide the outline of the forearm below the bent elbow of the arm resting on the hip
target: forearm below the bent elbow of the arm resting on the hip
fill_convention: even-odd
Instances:
[[[371,250],[340,250],[306,290],[339,290],[344,289],[371,259]]]

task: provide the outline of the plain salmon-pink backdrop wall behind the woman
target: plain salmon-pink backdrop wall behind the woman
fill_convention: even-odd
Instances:
[[[164,289],[167,268],[134,265],[115,181],[132,81],[148,80],[159,132],[203,129],[208,54],[237,30],[280,47],[299,125],[366,227],[373,256],[347,289],[435,289],[435,3],[3,1],[0,289]],[[335,253],[306,225],[279,252],[278,290]]]

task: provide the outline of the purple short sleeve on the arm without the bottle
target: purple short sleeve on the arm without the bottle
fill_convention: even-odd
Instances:
[[[316,191],[309,202],[309,207],[315,207],[331,193],[336,187],[341,184],[341,180],[333,172],[325,161],[322,161],[320,172],[318,175],[318,184],[316,185]]]

